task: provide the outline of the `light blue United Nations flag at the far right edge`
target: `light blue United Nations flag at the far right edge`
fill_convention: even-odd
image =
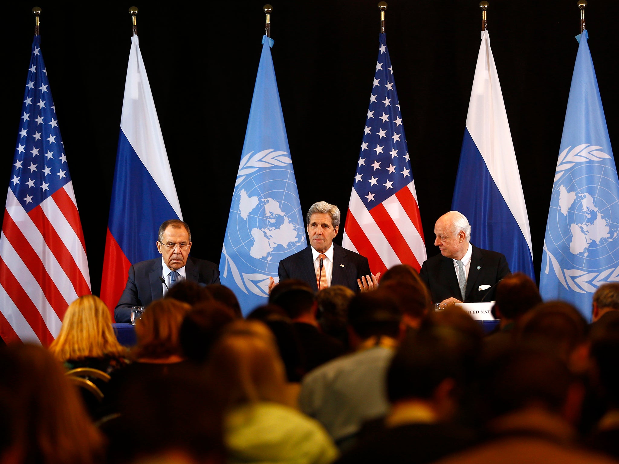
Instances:
[[[543,299],[574,304],[591,320],[593,293],[619,281],[619,181],[587,31],[569,90],[543,244]]]

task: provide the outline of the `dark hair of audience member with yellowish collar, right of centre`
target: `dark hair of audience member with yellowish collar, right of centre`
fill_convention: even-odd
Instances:
[[[441,382],[459,382],[463,364],[456,330],[433,327],[405,338],[387,369],[387,396],[395,403],[429,399]]]

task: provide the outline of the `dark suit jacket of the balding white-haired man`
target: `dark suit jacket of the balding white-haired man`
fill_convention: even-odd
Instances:
[[[510,273],[503,254],[473,245],[464,302],[480,303],[482,299],[486,302],[493,301],[496,291],[493,285]],[[428,286],[435,303],[441,303],[444,299],[452,297],[462,299],[454,261],[451,258],[438,254],[425,260],[419,277]],[[481,285],[490,285],[490,288],[479,290]]]

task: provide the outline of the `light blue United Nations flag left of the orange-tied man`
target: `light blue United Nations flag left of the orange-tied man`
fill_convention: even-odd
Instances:
[[[271,46],[265,35],[219,263],[244,314],[267,303],[280,260],[307,246]]]

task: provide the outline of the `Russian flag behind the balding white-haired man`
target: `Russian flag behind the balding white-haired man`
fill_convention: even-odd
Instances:
[[[469,220],[475,246],[503,253],[512,272],[535,280],[529,217],[488,31],[482,31],[451,208]]]

